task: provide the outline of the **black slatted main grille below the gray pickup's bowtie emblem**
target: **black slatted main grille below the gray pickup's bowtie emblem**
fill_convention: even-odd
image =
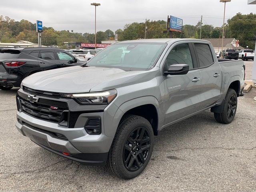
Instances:
[[[51,109],[50,105],[41,104],[40,102],[32,103],[24,98],[18,97],[20,100],[21,110],[31,116],[39,119],[48,120],[50,122],[59,123],[60,120],[65,121],[68,108],[55,106],[58,109]]]

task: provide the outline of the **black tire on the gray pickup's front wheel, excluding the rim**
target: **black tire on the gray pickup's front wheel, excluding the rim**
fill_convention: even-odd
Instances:
[[[137,130],[138,128],[144,128],[145,133],[147,133],[147,139],[150,143],[150,147],[148,148],[148,154],[146,156],[146,159],[144,160],[143,164],[140,164],[140,168],[138,170],[130,171],[125,166],[124,162],[124,152],[125,151],[125,144],[127,146],[128,138],[130,138],[131,134],[133,134],[134,130]],[[138,131],[139,132],[139,131]],[[143,134],[144,135],[144,134]],[[134,142],[135,143],[135,142]],[[135,147],[137,144],[134,144]],[[115,176],[118,176],[119,178],[123,179],[131,179],[136,176],[138,176],[147,166],[150,157],[152,155],[154,146],[154,133],[152,126],[148,120],[141,116],[136,115],[126,115],[122,118],[120,121],[120,124],[118,126],[118,129],[116,131],[116,135],[114,137],[114,140],[112,142],[112,146],[110,148],[109,154],[108,154],[108,160],[106,164],[106,168],[109,172],[114,174]],[[131,146],[131,149],[134,146]],[[127,150],[127,149],[126,149]],[[134,154],[137,151],[134,151]],[[138,151],[140,152],[140,151]],[[130,155],[132,156],[132,155]],[[135,163],[136,165],[136,163]],[[134,166],[136,167],[136,166]]]

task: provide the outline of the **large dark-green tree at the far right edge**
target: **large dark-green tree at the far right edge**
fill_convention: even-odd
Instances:
[[[240,40],[240,46],[255,48],[256,14],[236,14],[228,20],[228,27],[232,37]]]

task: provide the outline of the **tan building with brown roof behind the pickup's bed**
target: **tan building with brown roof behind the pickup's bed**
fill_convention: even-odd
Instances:
[[[212,43],[212,46],[214,47],[215,52],[221,51],[222,38],[209,38],[209,39],[203,39],[203,40],[210,41]],[[235,38],[224,38],[223,39],[223,50],[224,49],[241,50],[244,48],[240,45],[238,45],[238,47],[236,47],[236,39]]]

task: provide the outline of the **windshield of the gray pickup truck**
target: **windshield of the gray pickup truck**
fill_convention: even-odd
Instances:
[[[119,43],[100,51],[90,59],[88,66],[147,70],[153,67],[166,47],[165,43]]]

